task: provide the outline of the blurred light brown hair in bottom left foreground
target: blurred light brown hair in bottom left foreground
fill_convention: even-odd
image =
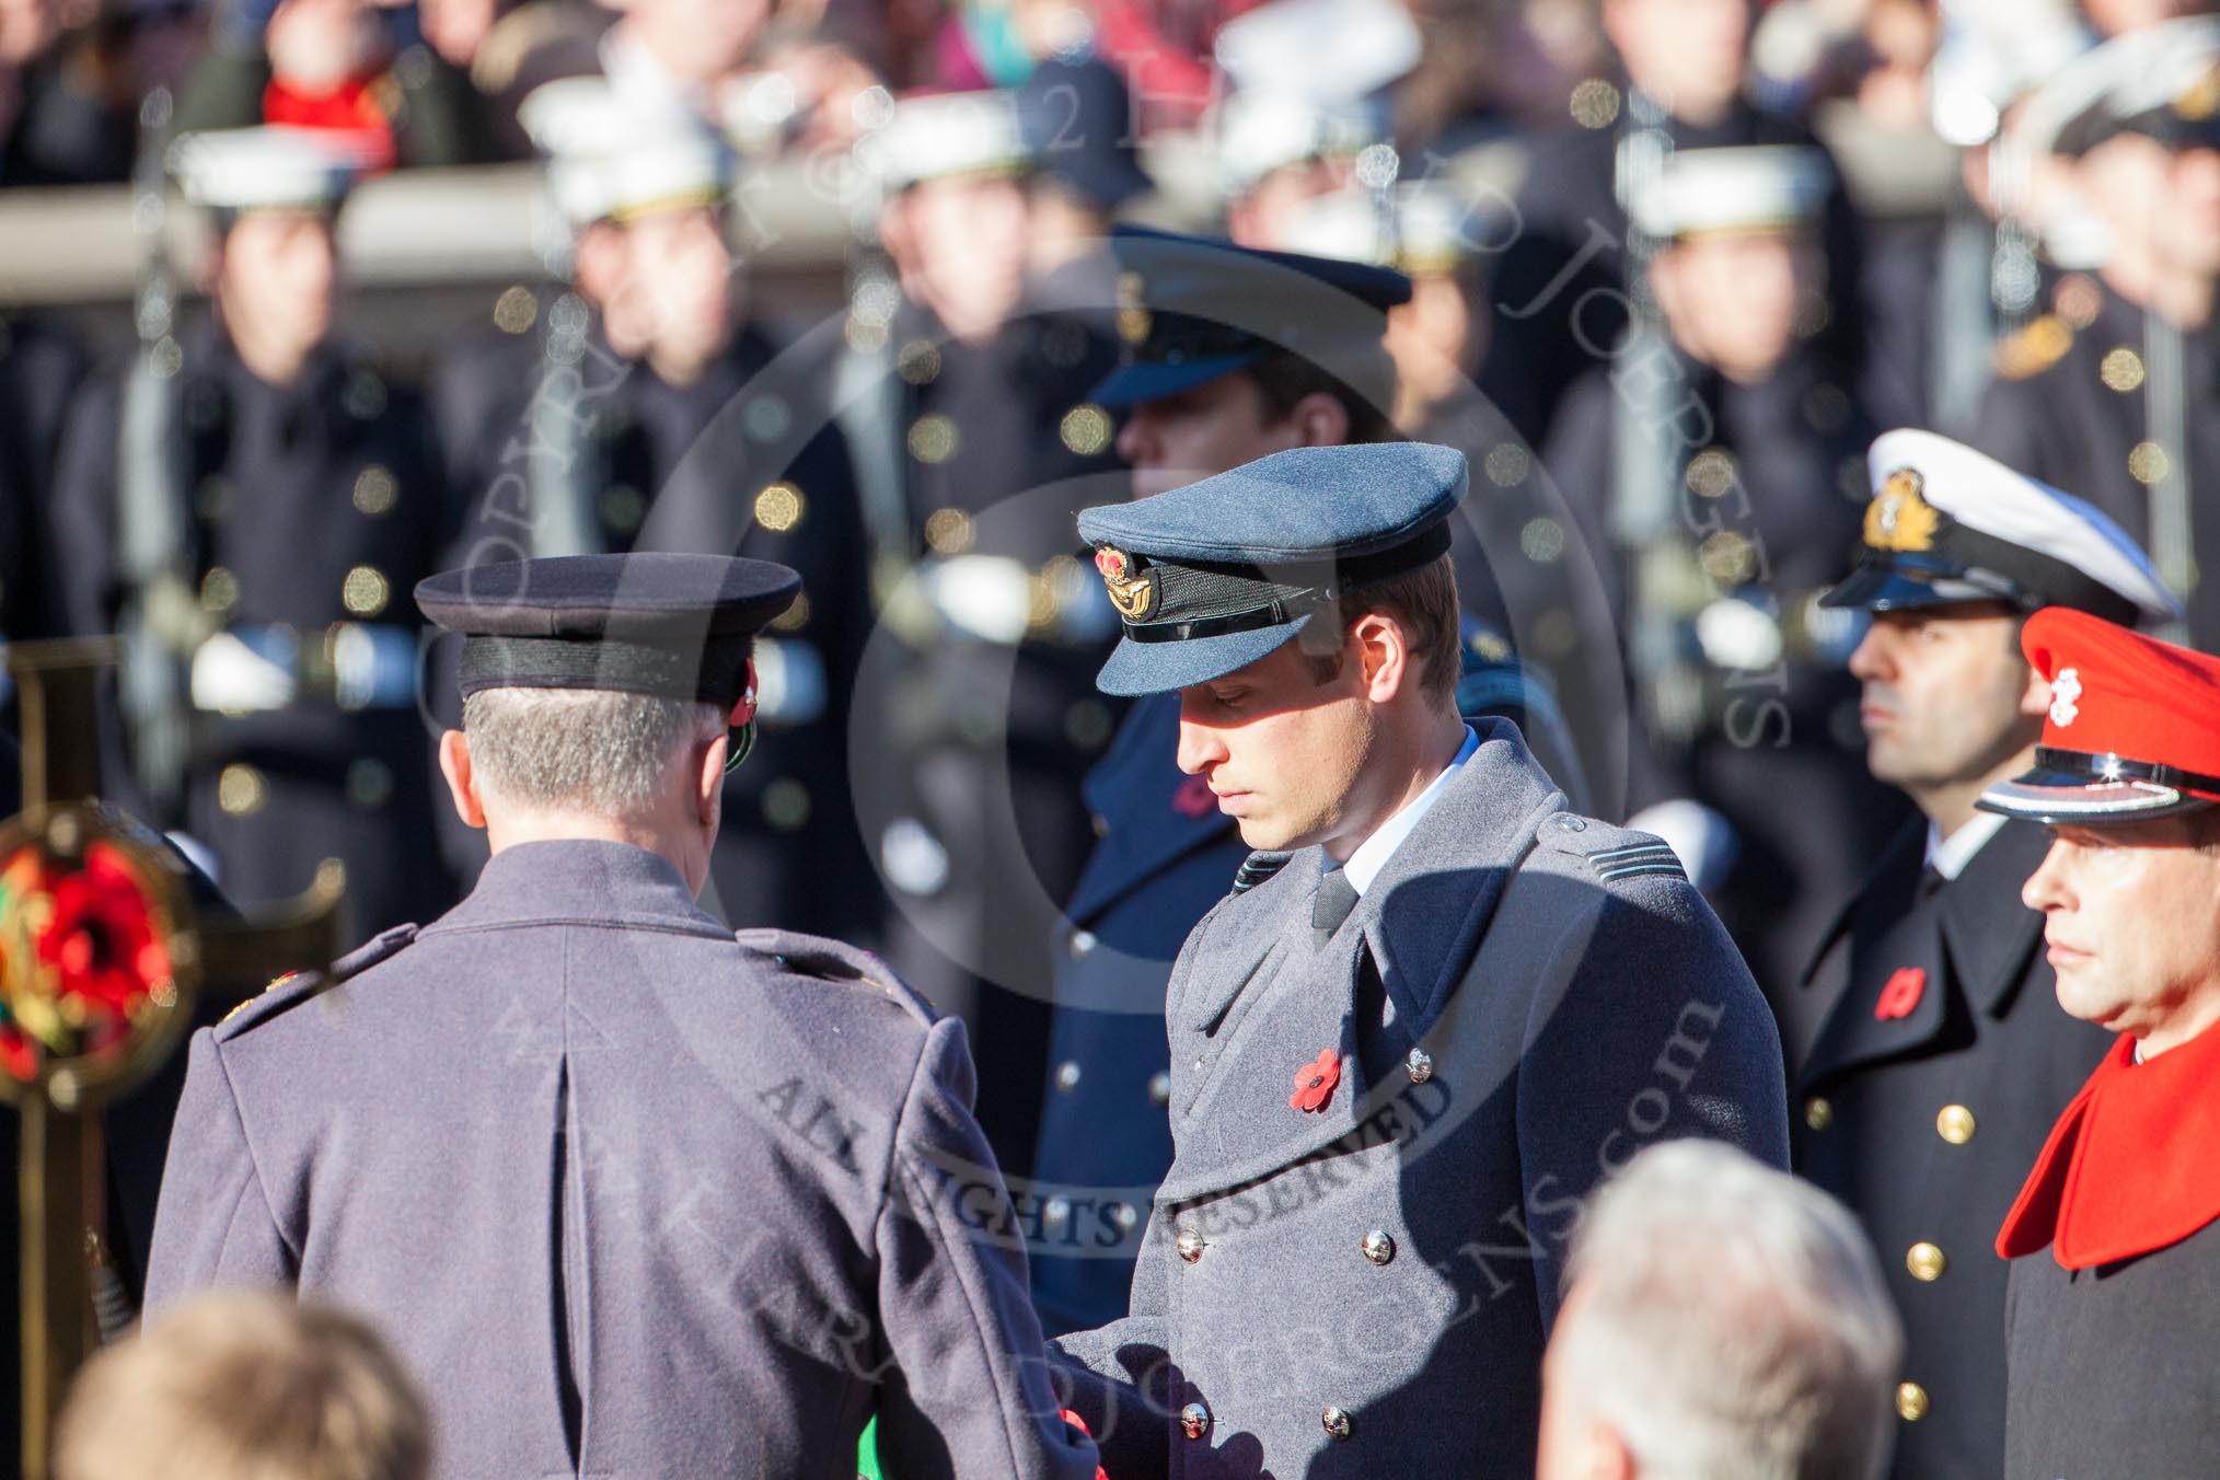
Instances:
[[[195,1296],[78,1376],[56,1480],[426,1480],[431,1420],[362,1320]]]

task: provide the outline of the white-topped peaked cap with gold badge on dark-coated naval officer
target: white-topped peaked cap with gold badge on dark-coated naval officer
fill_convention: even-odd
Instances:
[[[1874,439],[1865,468],[1865,557],[1825,606],[2071,606],[2145,628],[2182,617],[2151,557],[2109,515],[1987,453],[1898,428]]]

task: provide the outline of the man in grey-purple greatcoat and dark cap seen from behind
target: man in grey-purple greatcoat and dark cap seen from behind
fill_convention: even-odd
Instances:
[[[1094,1473],[1048,1393],[963,1030],[835,941],[695,908],[793,570],[486,564],[440,741],[471,896],[193,1038],[149,1302],[366,1311],[440,1473]]]

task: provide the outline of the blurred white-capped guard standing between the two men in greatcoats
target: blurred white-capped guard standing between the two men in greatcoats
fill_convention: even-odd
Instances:
[[[1110,304],[1043,306],[1028,282],[1035,160],[1008,93],[906,98],[859,155],[888,266],[857,273],[835,377],[881,632],[850,772],[888,950],[972,1023],[981,1123],[1026,1165],[1050,932],[1090,841],[1079,783],[1117,723],[1088,681],[1117,617],[1072,541],[1123,484],[1088,399]]]

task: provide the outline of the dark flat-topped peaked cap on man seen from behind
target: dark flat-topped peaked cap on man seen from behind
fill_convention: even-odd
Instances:
[[[462,692],[602,688],[730,708],[755,635],[801,577],[730,555],[559,555],[444,570],[417,584],[424,615],[462,646]]]

